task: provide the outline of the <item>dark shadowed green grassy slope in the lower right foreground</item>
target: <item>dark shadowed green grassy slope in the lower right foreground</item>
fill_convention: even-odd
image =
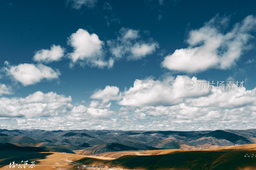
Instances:
[[[254,145],[255,146],[255,145]],[[244,157],[256,154],[254,146],[234,146],[230,149],[214,149],[207,151],[187,150],[150,156],[126,155],[114,160],[100,160],[83,158],[76,160],[85,165],[106,165],[109,167],[123,167],[127,169],[191,169],[191,170],[235,170],[256,169],[256,158]],[[252,150],[248,148],[253,148]],[[243,149],[244,148],[244,149]],[[158,152],[158,151],[157,151]],[[166,151],[165,151],[166,152]]]

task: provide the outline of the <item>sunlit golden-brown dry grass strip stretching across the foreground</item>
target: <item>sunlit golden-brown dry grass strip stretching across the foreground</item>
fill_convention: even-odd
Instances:
[[[124,155],[138,155],[138,152],[141,154],[146,155],[165,155],[165,154],[173,154],[173,153],[196,153],[196,151],[212,151],[212,152],[225,152],[225,151],[255,151],[256,150],[256,144],[247,144],[247,145],[237,145],[237,146],[224,146],[224,147],[217,147],[212,149],[165,149],[165,150],[153,150],[153,151],[123,151],[123,152],[106,152],[101,153],[99,156],[86,156],[86,155],[77,155],[77,154],[70,154],[70,153],[58,153],[58,152],[41,152],[42,154],[51,153],[51,155],[45,156],[44,159],[35,159],[37,161],[36,163],[36,169],[37,170],[53,170],[53,169],[76,169],[76,165],[72,165],[69,162],[65,161],[65,159],[78,161],[81,159],[92,159],[94,163],[100,163],[100,162],[109,162],[117,160],[115,158],[119,158]],[[195,152],[194,152],[195,151]],[[83,151],[82,151],[83,152]],[[78,151],[77,151],[78,153]],[[29,154],[29,153],[28,153]],[[38,153],[40,154],[40,153]],[[183,154],[184,155],[184,154]],[[243,154],[242,154],[243,156]],[[241,156],[241,159],[242,159]],[[26,158],[26,155],[24,159]],[[40,158],[40,157],[38,157]],[[133,158],[133,157],[132,157]],[[146,159],[146,158],[145,158]],[[247,160],[247,159],[246,159]],[[1,160],[0,160],[1,161]],[[18,160],[17,160],[18,161]],[[30,161],[30,160],[29,160]],[[32,161],[32,160],[31,160]],[[216,159],[217,161],[217,159]],[[219,160],[218,160],[219,161]],[[15,160],[16,162],[16,160]],[[19,161],[17,162],[19,163]],[[221,163],[221,161],[220,161]],[[219,164],[218,164],[219,165]],[[30,165],[27,165],[26,168],[28,168]],[[119,166],[120,167],[120,166]],[[6,165],[1,170],[9,170],[9,165]],[[12,169],[18,169],[18,166]],[[248,165],[248,167],[243,167],[244,170],[254,170],[255,167],[251,167]],[[242,170],[239,169],[239,170]]]

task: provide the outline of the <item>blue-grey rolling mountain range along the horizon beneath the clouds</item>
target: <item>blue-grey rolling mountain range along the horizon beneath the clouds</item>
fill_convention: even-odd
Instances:
[[[2,134],[2,135],[1,135]],[[193,149],[255,144],[256,129],[205,131],[0,129],[0,143],[93,151]],[[56,149],[57,148],[57,149]],[[71,151],[72,152],[72,151]]]

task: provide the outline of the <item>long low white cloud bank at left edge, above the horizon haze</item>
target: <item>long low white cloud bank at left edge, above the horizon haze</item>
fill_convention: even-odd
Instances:
[[[35,92],[25,98],[0,98],[1,117],[56,116],[66,113],[73,106],[71,97],[54,92]]]

